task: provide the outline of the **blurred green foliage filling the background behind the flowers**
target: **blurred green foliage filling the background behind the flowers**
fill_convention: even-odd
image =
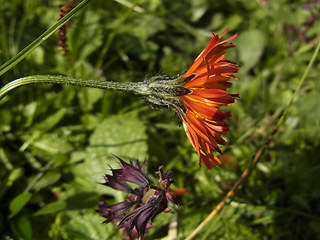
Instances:
[[[59,16],[63,0],[0,1],[0,61],[27,46]],[[126,4],[124,4],[126,3]],[[61,74],[141,81],[181,74],[211,31],[238,32],[228,59],[241,65],[230,89],[224,165],[207,171],[175,116],[153,111],[128,93],[79,87],[21,87],[0,102],[0,233],[2,239],[118,239],[96,212],[98,183],[116,154],[173,170],[186,187],[177,216],[160,215],[148,239],[184,239],[248,167],[270,117],[292,97],[319,41],[320,3],[306,0],[93,0],[67,29],[68,56],[55,37],[1,76]],[[320,58],[298,101],[256,168],[197,239],[320,239]],[[274,123],[273,123],[274,124]],[[177,221],[177,236],[168,235]],[[166,237],[167,236],[167,237]]]

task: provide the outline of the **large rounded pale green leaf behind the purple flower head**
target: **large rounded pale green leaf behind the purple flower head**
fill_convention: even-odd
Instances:
[[[99,191],[102,176],[108,166],[118,166],[118,161],[112,155],[121,158],[136,158],[143,161],[148,150],[146,128],[136,115],[122,114],[111,116],[102,121],[89,139],[87,156],[84,162],[73,168],[73,173],[91,190]]]

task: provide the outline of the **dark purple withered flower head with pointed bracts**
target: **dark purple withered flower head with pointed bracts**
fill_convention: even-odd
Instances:
[[[117,157],[118,158],[118,157]],[[174,182],[172,173],[164,173],[159,167],[157,176],[158,186],[152,185],[145,177],[144,163],[126,163],[118,158],[121,167],[111,169],[112,175],[105,175],[104,185],[128,193],[123,202],[109,205],[106,201],[99,204],[98,212],[106,218],[104,223],[112,222],[118,228],[124,228],[129,239],[144,238],[151,222],[161,212],[169,212],[169,202],[178,205],[170,185]],[[128,183],[134,183],[138,188],[133,188]]]

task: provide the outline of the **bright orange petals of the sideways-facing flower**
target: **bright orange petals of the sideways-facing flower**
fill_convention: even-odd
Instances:
[[[231,61],[224,60],[228,48],[234,44],[225,44],[237,37],[232,35],[224,41],[221,35],[213,33],[207,47],[196,58],[189,70],[182,76],[186,82],[183,88],[188,89],[188,94],[180,96],[184,111],[179,111],[185,132],[198,152],[201,166],[202,161],[208,169],[220,165],[220,160],[213,154],[222,154],[218,145],[225,145],[222,138],[229,131],[225,120],[231,116],[229,112],[219,109],[234,102],[238,94],[226,92],[231,87],[230,78],[238,72],[239,66]]]

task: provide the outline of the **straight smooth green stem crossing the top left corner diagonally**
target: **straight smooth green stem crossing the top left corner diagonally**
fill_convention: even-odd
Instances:
[[[64,24],[66,24],[81,8],[87,5],[91,0],[83,0],[79,3],[75,8],[73,8],[67,15],[61,18],[58,22],[56,22],[53,26],[51,26],[47,31],[41,34],[36,40],[34,40],[27,47],[22,49],[17,55],[11,58],[9,61],[0,66],[0,76],[5,72],[10,70],[16,64],[18,64],[21,60],[23,60],[26,56],[28,56],[35,48],[37,48],[41,43],[47,40],[50,36],[52,36],[59,28],[61,28]]]

